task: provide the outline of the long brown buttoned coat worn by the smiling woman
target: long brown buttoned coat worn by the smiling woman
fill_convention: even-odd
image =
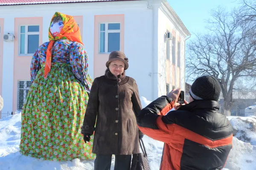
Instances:
[[[135,114],[141,111],[138,87],[131,77],[119,82],[107,69],[93,81],[81,133],[95,135],[93,153],[131,155],[140,153]]]

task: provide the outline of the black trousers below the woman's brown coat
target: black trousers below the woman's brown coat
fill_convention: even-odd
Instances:
[[[94,170],[110,170],[112,155],[96,155]],[[130,170],[131,155],[115,155],[114,170]]]

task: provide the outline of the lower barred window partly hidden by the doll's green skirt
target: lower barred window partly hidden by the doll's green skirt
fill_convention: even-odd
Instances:
[[[31,86],[31,81],[18,81],[18,110],[21,111]]]

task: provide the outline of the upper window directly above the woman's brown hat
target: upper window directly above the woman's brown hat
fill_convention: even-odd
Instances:
[[[120,23],[101,23],[99,52],[120,51]]]

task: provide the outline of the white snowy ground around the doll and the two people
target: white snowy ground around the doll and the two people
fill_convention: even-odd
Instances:
[[[149,101],[141,98],[143,107]],[[92,161],[44,161],[19,153],[21,114],[0,119],[0,170],[93,170]],[[256,170],[256,116],[229,117],[236,137],[224,170]],[[163,143],[145,136],[151,170],[159,170]],[[239,140],[240,139],[240,140]],[[114,159],[112,160],[112,165]],[[113,170],[113,166],[111,167]]]

